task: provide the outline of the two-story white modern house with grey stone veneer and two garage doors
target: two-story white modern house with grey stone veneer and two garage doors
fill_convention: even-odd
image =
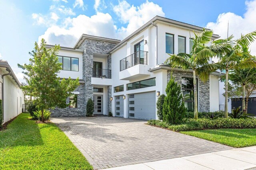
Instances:
[[[67,99],[69,107],[56,108],[52,115],[85,116],[92,98],[94,114],[112,111],[119,117],[157,119],[156,101],[166,94],[171,75],[182,87],[186,107],[193,111],[192,71],[163,64],[167,53],[190,53],[193,31],[200,33],[202,27],[156,16],[122,41],[83,34],[74,48],[61,47],[59,76],[79,77],[80,86]],[[197,78],[199,111],[219,110],[219,76],[211,73],[206,83]]]

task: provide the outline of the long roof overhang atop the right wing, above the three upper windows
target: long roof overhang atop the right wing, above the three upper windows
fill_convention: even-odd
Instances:
[[[196,25],[191,25],[191,24],[188,24],[188,23],[184,23],[184,22],[180,22],[180,21],[176,21],[176,20],[171,20],[171,19],[168,19],[168,18],[164,18],[164,17],[160,17],[160,16],[155,16],[154,18],[152,18],[152,20],[148,21],[146,24],[144,24],[142,27],[140,27],[139,29],[137,29],[134,33],[132,33],[131,35],[129,35],[128,37],[126,37],[124,40],[122,40],[120,43],[118,43],[115,47],[113,47],[112,49],[110,49],[107,53],[111,53],[112,51],[122,47],[122,45],[128,41],[129,39],[131,39],[134,35],[140,33],[141,31],[143,31],[144,29],[146,29],[147,27],[149,27],[152,22],[160,22],[160,23],[168,23],[169,25],[173,25],[173,26],[178,26],[178,27],[182,27],[182,28],[185,28],[185,29],[191,29],[191,30],[194,30],[194,31],[199,31],[201,32],[203,27],[199,27],[199,26],[196,26]],[[210,29],[207,29],[207,30],[210,30]],[[219,35],[217,34],[213,34],[212,35],[212,40],[214,39],[218,39],[220,38]]]

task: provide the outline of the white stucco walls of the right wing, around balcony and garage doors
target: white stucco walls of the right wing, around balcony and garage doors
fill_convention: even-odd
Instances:
[[[164,63],[166,59],[169,57],[166,54],[166,41],[165,41],[165,33],[174,34],[174,53],[178,54],[178,35],[186,37],[186,53],[189,53],[189,38],[190,31],[188,29],[181,29],[178,27],[157,23],[158,25],[158,64]],[[191,31],[192,32],[192,31]],[[139,68],[138,64],[136,66],[132,66],[126,70],[120,72],[120,60],[134,53],[134,45],[142,40],[147,40],[147,43],[144,45],[144,51],[148,51],[148,65],[143,65],[142,68]],[[167,70],[158,70],[156,72],[142,72],[147,70],[148,68],[156,67],[156,27],[150,25],[148,28],[144,29],[144,31],[138,33],[131,39],[129,39],[126,43],[122,45],[122,47],[111,52],[112,54],[112,113],[115,111],[115,98],[114,96],[124,95],[126,99],[124,100],[124,117],[128,117],[128,95],[136,94],[142,92],[160,92],[160,94],[166,94],[165,89],[167,85]],[[210,61],[211,63],[211,61]],[[144,67],[144,68],[143,68]],[[142,72],[143,75],[139,75],[138,77],[134,76],[134,78],[128,78],[128,80],[120,80],[120,78],[127,77],[128,74],[136,74],[136,72]],[[120,76],[120,74],[122,76]],[[130,75],[129,75],[130,76]],[[141,88],[136,90],[126,90],[126,84],[137,82],[140,80],[146,80],[149,78],[156,78],[156,86]],[[210,88],[210,111],[218,110],[218,77],[211,76],[210,80],[211,88]],[[114,93],[114,87],[124,85],[123,92]],[[200,89],[199,89],[200,90]],[[155,95],[156,96],[156,95]],[[217,98],[217,99],[215,99]],[[157,101],[158,97],[156,97]],[[214,100],[215,99],[215,100]],[[145,101],[146,102],[146,101]],[[157,109],[156,109],[157,111]],[[157,118],[157,114],[156,114]]]

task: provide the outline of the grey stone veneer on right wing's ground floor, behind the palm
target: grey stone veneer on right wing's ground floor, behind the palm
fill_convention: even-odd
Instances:
[[[175,82],[181,85],[182,77],[188,77],[193,78],[192,72],[186,72],[186,71],[171,71],[168,70],[167,72],[167,81],[170,80],[170,76],[174,77]],[[198,78],[198,77],[197,77]],[[198,78],[198,95],[199,95],[199,111],[210,111],[210,82],[209,80],[207,82],[202,82]]]

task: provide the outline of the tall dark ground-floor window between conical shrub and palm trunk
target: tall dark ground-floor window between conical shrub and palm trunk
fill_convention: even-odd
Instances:
[[[198,79],[196,79],[198,82]],[[196,83],[198,94],[198,83]],[[194,111],[194,84],[193,78],[182,77],[182,96],[188,111]]]

